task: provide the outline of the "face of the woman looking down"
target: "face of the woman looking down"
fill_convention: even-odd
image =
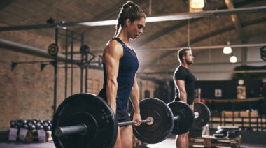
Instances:
[[[141,17],[140,20],[135,20],[134,22],[130,22],[130,20],[129,20],[127,22],[127,25],[128,25],[128,29],[127,29],[128,36],[132,40],[134,40],[138,36],[140,36],[141,33],[143,33],[143,31],[144,31],[145,23],[146,23],[146,19],[144,17]]]

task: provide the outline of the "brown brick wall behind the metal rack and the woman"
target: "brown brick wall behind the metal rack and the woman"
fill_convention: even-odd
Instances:
[[[53,38],[38,36],[29,31],[6,31],[0,34],[0,38],[44,50],[48,48],[50,43],[55,42]],[[59,43],[60,51],[64,51],[63,44]],[[74,50],[79,51],[79,45],[76,45]],[[54,101],[53,66],[45,66],[43,71],[40,71],[40,64],[18,64],[14,71],[11,71],[12,61],[48,60],[50,59],[0,48],[0,127],[9,127],[10,120],[14,119],[52,119]],[[59,68],[57,71],[57,107],[64,101],[64,75],[64,68]],[[88,77],[88,92],[97,94],[102,89],[103,72],[90,69]],[[142,83],[140,94],[142,92],[144,97],[144,91],[148,89],[151,91],[151,97],[153,97],[154,83],[138,80],[139,86],[140,82]],[[67,96],[71,95],[70,81],[71,72],[69,69]],[[83,82],[83,84],[85,83]],[[73,94],[77,93],[80,93],[80,68],[73,69]]]

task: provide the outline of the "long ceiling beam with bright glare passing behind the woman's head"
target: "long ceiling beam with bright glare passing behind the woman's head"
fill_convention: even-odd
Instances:
[[[200,13],[177,13],[174,15],[163,15],[157,17],[147,17],[146,22],[164,22],[174,20],[190,20],[201,17],[212,17],[219,15],[232,15],[239,13],[258,13],[266,11],[266,6],[249,7],[249,8],[235,8],[233,10],[209,10]],[[69,27],[69,26],[107,26],[115,25],[117,20],[100,20],[100,21],[89,21],[89,22],[66,22],[58,24],[35,24],[25,26],[13,26],[13,27],[0,27],[0,31],[15,31],[15,30],[28,30],[28,29],[45,29],[55,27]]]

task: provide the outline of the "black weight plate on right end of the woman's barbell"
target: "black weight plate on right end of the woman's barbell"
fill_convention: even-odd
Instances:
[[[146,98],[139,102],[141,119],[152,117],[152,125],[142,123],[140,126],[133,126],[134,135],[146,143],[158,143],[168,138],[172,133],[174,118],[171,109],[158,98]],[[130,114],[133,120],[134,110]]]

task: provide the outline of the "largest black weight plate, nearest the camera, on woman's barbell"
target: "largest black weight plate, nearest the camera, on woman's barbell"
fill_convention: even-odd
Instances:
[[[57,127],[86,124],[86,134],[55,136]],[[113,147],[116,143],[118,126],[113,110],[99,96],[75,94],[66,98],[52,118],[52,138],[58,148],[69,147]]]

